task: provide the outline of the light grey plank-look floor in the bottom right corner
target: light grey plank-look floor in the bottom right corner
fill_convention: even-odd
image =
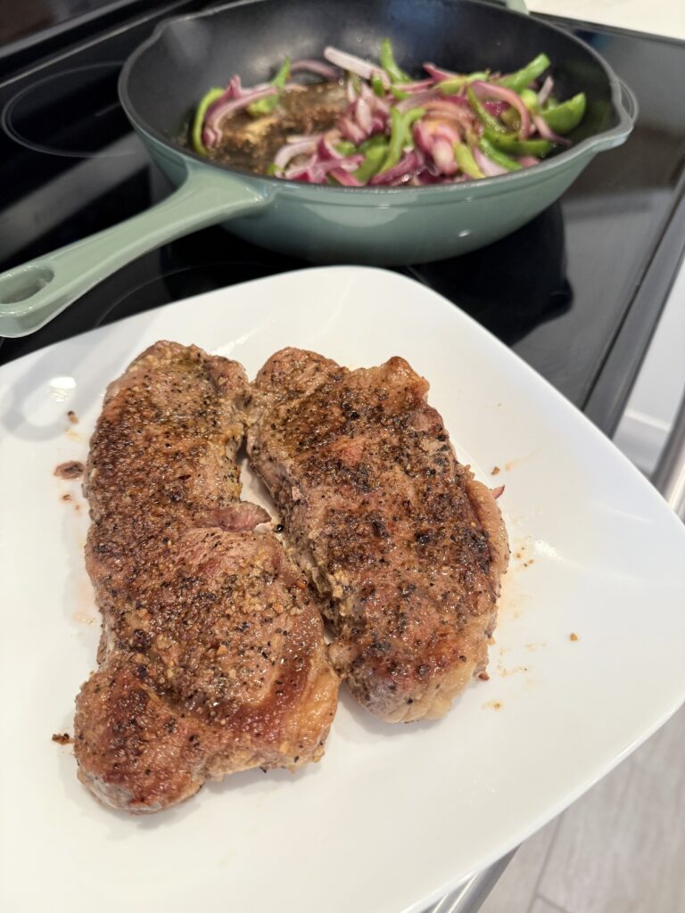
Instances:
[[[480,913],[685,913],[685,708],[527,840]]]

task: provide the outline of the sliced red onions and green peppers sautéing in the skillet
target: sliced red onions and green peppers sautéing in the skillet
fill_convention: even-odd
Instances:
[[[509,74],[425,63],[422,79],[397,65],[387,38],[378,63],[335,47],[323,57],[286,59],[251,89],[239,76],[210,89],[195,111],[195,152],[311,184],[452,184],[539,163],[570,145],[585,114],[584,92],[554,97],[545,54]]]

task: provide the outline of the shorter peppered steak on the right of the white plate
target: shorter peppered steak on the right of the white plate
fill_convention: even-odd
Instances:
[[[284,349],[253,384],[248,453],[326,598],[333,665],[376,716],[441,716],[485,669],[506,530],[404,359],[348,371]]]

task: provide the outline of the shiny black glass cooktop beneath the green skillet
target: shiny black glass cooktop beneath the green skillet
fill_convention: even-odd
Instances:
[[[154,5],[0,81],[0,270],[140,212],[170,188],[117,100],[122,61]],[[166,13],[165,13],[166,11]],[[483,323],[609,432],[685,248],[685,44],[552,19],[599,51],[638,96],[636,130],[560,203],[466,257],[400,268]],[[18,59],[18,58],[17,58]],[[5,340],[0,362],[199,292],[306,263],[219,227],[141,257],[43,330]]]

